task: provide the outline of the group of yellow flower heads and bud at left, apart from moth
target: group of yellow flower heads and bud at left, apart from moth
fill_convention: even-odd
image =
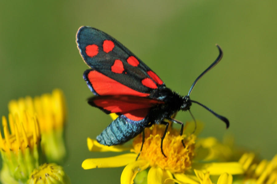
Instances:
[[[65,156],[63,126],[66,113],[62,91],[54,90],[52,94],[34,99],[12,100],[8,106],[8,121],[2,116],[4,138],[0,131],[1,182],[70,183],[61,166],[45,164],[45,158],[62,162]]]

